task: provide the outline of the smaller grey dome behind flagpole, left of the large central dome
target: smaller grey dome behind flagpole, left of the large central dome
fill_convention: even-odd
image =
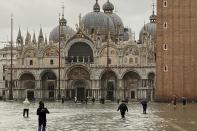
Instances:
[[[75,31],[69,26],[63,26],[64,35],[66,37],[71,37],[75,34]],[[59,26],[56,26],[49,35],[49,41],[53,41],[55,43],[59,42]]]

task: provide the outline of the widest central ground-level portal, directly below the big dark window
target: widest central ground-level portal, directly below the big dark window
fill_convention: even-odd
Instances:
[[[83,67],[75,67],[68,73],[68,89],[66,97],[77,100],[84,100],[90,95],[89,90],[90,74]]]

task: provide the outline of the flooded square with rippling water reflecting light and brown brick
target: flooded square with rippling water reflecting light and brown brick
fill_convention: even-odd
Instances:
[[[197,104],[176,110],[166,103],[149,103],[142,114],[139,103],[129,103],[126,119],[116,103],[46,102],[47,131],[197,131]],[[30,105],[30,117],[23,118],[22,102],[0,102],[0,131],[37,131],[37,103]]]

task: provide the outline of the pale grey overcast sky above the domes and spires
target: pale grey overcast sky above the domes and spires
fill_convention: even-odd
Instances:
[[[107,0],[99,0],[102,5]],[[155,1],[155,0],[154,0]],[[110,0],[125,25],[136,32],[136,38],[144,21],[149,22],[153,0]],[[95,0],[0,0],[0,41],[10,40],[10,14],[14,14],[14,40],[20,26],[23,36],[27,28],[31,34],[39,33],[40,25],[47,36],[58,24],[62,3],[65,5],[67,25],[75,29],[78,16],[93,11]],[[2,44],[0,43],[0,47]]]

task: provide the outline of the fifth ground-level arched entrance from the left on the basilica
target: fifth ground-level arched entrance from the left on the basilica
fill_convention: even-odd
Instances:
[[[127,72],[124,77],[124,98],[135,99],[140,76],[134,71]]]

